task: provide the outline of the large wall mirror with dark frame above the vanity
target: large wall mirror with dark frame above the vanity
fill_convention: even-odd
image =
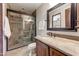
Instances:
[[[47,30],[76,31],[76,4],[59,3],[47,11]]]

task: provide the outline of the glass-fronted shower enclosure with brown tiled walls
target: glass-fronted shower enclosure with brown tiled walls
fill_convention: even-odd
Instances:
[[[7,50],[15,49],[32,43],[35,36],[35,19],[13,10],[7,10],[11,37],[7,40]]]

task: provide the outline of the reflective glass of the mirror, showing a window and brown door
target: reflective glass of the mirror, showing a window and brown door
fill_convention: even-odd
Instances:
[[[64,4],[51,12],[49,12],[49,20],[53,21],[50,27],[53,28],[69,28],[71,4]],[[60,16],[61,15],[61,16]],[[68,23],[68,25],[67,25]]]

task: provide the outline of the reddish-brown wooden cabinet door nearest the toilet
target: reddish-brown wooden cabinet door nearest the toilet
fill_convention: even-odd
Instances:
[[[37,56],[48,56],[48,46],[36,40],[36,54]]]

